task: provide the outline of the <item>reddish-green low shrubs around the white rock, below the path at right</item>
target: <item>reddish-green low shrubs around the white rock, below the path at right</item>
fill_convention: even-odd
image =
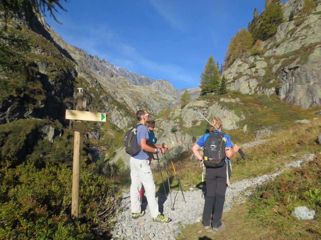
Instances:
[[[251,197],[249,213],[262,221],[268,221],[279,215],[279,221],[289,218],[297,206],[308,206],[316,211],[320,219],[321,212],[321,162],[309,162],[301,168],[289,170],[273,181],[263,184]]]

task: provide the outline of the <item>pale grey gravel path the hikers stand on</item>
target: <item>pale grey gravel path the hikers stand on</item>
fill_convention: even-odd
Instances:
[[[302,160],[298,160],[287,164],[282,171],[289,167],[298,167],[305,161],[313,159],[313,155],[307,154]],[[280,175],[282,171],[265,174],[256,178],[246,179],[238,182],[233,182],[227,188],[224,212],[229,211],[233,204],[240,203],[245,200],[245,197],[250,195],[254,187],[262,184],[266,180],[270,180]],[[172,204],[170,196],[156,193],[156,198],[160,206],[160,212],[164,216],[171,218],[169,223],[155,223],[152,222],[147,203],[142,204],[142,210],[146,213],[143,217],[136,220],[131,218],[130,210],[130,196],[129,191],[123,192],[121,206],[124,211],[119,213],[116,217],[117,224],[113,229],[113,239],[153,239],[153,240],[174,240],[181,233],[180,226],[183,228],[187,224],[195,224],[202,219],[202,212],[204,207],[204,193],[206,189],[190,188],[189,191],[184,192],[186,203],[184,202],[181,191],[178,188],[172,189],[172,202],[174,210],[171,210]]]

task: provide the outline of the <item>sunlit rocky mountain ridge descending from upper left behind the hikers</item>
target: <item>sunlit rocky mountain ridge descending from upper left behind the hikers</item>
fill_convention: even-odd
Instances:
[[[176,91],[167,80],[153,80],[124,68],[118,68],[97,56],[91,56],[80,48],[66,43],[43,19],[42,24],[53,41],[67,52],[71,60],[75,61],[78,76],[99,83],[112,98],[123,103],[133,113],[144,108],[151,112],[152,116],[156,116],[163,107],[169,106],[173,109],[175,105],[179,105]],[[117,105],[105,110],[109,121],[121,129],[136,121],[135,118],[126,116],[126,111]]]

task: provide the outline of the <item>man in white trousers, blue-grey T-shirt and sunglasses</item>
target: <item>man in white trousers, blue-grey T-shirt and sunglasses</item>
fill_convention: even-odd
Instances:
[[[146,154],[146,151],[152,153],[165,153],[166,148],[169,149],[169,145],[164,145],[165,148],[161,148],[161,145],[154,145],[157,148],[147,145],[146,141],[149,140],[149,136],[145,123],[149,120],[149,114],[145,109],[142,109],[137,111],[136,117],[140,123],[137,127],[136,137],[142,150],[137,155],[130,157],[130,177],[132,179],[132,184],[130,186],[130,203],[132,218],[137,219],[145,214],[144,211],[141,211],[139,201],[139,190],[143,183],[152,220],[154,222],[169,222],[171,219],[165,218],[161,212],[158,211],[158,203],[155,197],[155,183]]]

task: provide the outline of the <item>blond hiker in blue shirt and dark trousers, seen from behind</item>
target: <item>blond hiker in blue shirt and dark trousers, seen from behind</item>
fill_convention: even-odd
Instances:
[[[207,231],[217,232],[225,228],[224,221],[221,221],[223,206],[225,202],[225,193],[231,176],[230,157],[234,156],[238,152],[239,146],[236,144],[233,146],[230,136],[224,134],[224,141],[222,143],[222,137],[216,137],[222,135],[222,122],[218,117],[210,119],[211,133],[206,133],[202,136],[192,147],[194,155],[204,163],[206,191],[203,211],[203,227]],[[210,141],[210,142],[209,142]],[[217,146],[222,146],[217,148]],[[204,158],[198,152],[198,149],[204,148]],[[224,149],[223,149],[224,148]],[[217,157],[216,154],[211,151],[225,151]],[[219,159],[218,159],[219,158]],[[205,163],[204,159],[211,160]],[[211,216],[212,215],[212,216]],[[210,229],[212,225],[212,229]]]

